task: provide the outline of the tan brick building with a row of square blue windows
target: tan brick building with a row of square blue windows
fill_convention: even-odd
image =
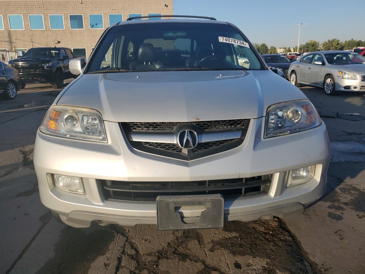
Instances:
[[[110,24],[173,14],[173,0],[0,0],[0,50],[70,47],[90,55]]]

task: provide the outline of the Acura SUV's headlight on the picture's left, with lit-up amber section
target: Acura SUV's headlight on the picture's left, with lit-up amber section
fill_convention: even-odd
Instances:
[[[39,129],[53,136],[108,142],[101,114],[86,107],[54,105],[47,111]]]

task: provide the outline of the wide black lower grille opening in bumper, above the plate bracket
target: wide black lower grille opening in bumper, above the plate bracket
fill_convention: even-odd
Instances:
[[[222,194],[225,199],[266,194],[271,175],[188,182],[127,182],[98,180],[105,200],[156,201],[159,195]]]

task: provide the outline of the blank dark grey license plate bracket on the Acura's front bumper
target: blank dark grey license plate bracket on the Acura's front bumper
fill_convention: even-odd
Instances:
[[[160,230],[223,227],[222,194],[158,196],[156,204],[157,228]],[[201,212],[197,222],[187,223],[180,213],[176,212],[175,208],[181,206],[205,206],[206,209]]]

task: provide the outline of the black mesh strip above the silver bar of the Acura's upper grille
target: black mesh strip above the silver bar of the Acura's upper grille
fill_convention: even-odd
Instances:
[[[129,130],[142,131],[173,131],[176,126],[189,123],[196,125],[201,130],[222,130],[243,128],[246,119],[222,120],[222,121],[196,121],[196,122],[127,122],[125,124]]]

